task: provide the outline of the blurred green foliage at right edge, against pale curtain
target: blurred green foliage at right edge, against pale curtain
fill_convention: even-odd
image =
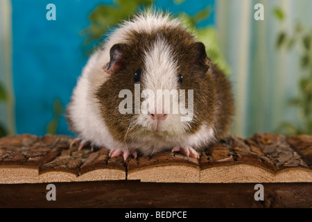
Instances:
[[[277,8],[275,16],[281,22],[284,20],[284,12]],[[308,134],[312,135],[312,28],[303,27],[300,22],[293,27],[293,33],[281,31],[277,36],[277,48],[293,49],[295,46],[300,51],[300,66],[304,76],[300,78],[299,94],[288,101],[288,105],[298,110],[300,124],[285,121],[281,123],[281,129],[286,135]]]

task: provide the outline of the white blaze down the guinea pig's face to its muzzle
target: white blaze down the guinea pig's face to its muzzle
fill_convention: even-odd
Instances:
[[[136,123],[148,130],[153,130],[155,128],[154,125],[159,124],[159,129],[168,131],[171,136],[182,135],[189,128],[189,123],[181,121],[178,112],[173,113],[173,106],[179,111],[179,107],[176,107],[178,106],[177,96],[179,92],[177,62],[173,60],[172,51],[165,40],[157,40],[153,48],[145,52],[143,72],[141,77],[141,85],[144,86],[143,90],[150,90],[154,96],[141,99],[143,100],[142,103],[152,105],[147,110],[144,110],[146,106],[141,106],[141,114],[137,117]],[[164,92],[164,90],[167,90],[167,92],[176,92],[175,94],[171,94],[170,104],[167,103],[166,109],[168,110],[166,112],[164,112],[164,106],[166,104],[164,104],[163,96],[159,96],[161,94],[157,96],[158,92]],[[176,101],[176,103],[173,101]],[[168,105],[170,106],[169,108]],[[169,114],[164,121],[156,122],[148,116],[148,112]]]

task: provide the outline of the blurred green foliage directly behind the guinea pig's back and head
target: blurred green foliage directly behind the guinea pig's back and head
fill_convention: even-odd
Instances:
[[[184,3],[184,1],[185,0],[174,0],[174,3],[181,4]],[[111,28],[114,28],[124,19],[131,19],[131,17],[135,15],[135,12],[150,7],[152,7],[151,0],[116,0],[113,6],[103,4],[97,6],[89,15],[90,25],[82,31],[83,35],[87,38],[87,40],[85,40],[87,55],[96,49],[98,43],[103,41],[103,36],[107,35]],[[198,11],[193,16],[180,12],[177,17],[180,17],[182,22],[189,27],[189,31],[196,33],[198,40],[207,46],[207,55],[214,63],[225,71],[225,73],[229,73],[229,67],[216,45],[215,29],[210,26],[204,28],[198,27],[199,22],[210,16],[211,10],[211,6],[207,6],[207,8]]]

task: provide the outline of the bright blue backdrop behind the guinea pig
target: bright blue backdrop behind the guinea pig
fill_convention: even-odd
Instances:
[[[56,6],[56,21],[46,20],[46,5]],[[80,31],[89,25],[88,15],[103,0],[12,0],[12,71],[15,89],[17,133],[46,134],[53,119],[53,101],[66,107],[78,76],[87,62],[85,37]],[[155,1],[171,12],[193,15],[214,1]],[[200,26],[214,24],[214,11]],[[64,113],[58,134],[73,135]]]

